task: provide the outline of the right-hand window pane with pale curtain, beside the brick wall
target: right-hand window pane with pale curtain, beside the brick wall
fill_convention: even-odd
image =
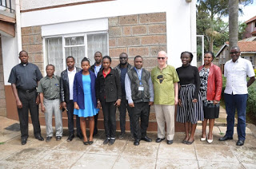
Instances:
[[[102,56],[107,55],[107,36],[106,33],[88,34],[87,35],[87,56],[91,64],[94,64],[94,53],[99,51]]]

